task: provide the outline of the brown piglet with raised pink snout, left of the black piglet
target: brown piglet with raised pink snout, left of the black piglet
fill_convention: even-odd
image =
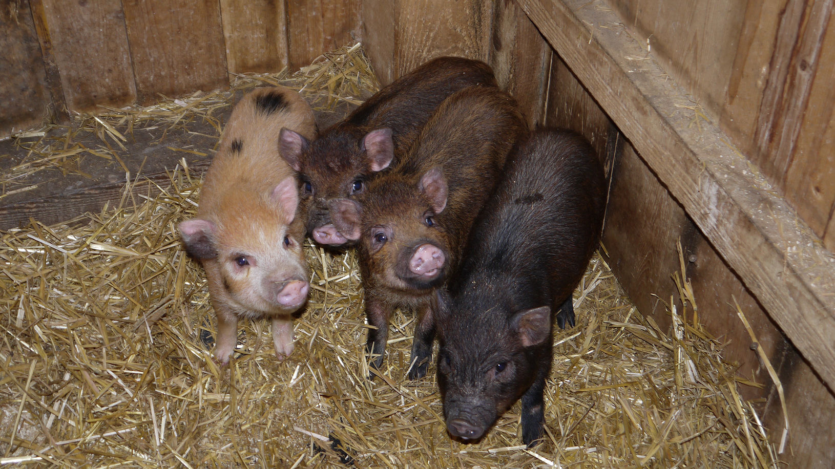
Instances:
[[[417,309],[411,379],[426,375],[434,338],[429,302],[458,264],[478,209],[504,159],[527,132],[514,99],[498,88],[467,88],[433,115],[397,168],[372,180],[358,200],[331,201],[338,229],[359,241],[369,330],[379,368],[388,318],[398,305]]]

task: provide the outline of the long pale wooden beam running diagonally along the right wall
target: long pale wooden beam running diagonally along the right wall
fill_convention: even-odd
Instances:
[[[588,0],[518,3],[829,389],[835,389],[835,256],[721,129],[695,112],[691,97],[614,12]]]

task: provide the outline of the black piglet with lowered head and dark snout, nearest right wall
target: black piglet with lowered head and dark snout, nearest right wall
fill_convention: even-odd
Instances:
[[[579,135],[539,130],[514,152],[436,298],[438,383],[450,435],[477,441],[522,399],[522,441],[542,436],[551,329],[600,240],[603,171]]]

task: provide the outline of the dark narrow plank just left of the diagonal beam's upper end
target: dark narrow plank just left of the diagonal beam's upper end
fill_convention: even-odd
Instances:
[[[496,3],[490,44],[499,86],[514,95],[529,125],[543,124],[551,48],[514,1]]]

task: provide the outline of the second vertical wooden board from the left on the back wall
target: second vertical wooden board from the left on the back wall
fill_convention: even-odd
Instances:
[[[43,0],[43,23],[69,110],[134,103],[134,71],[121,3]]]

